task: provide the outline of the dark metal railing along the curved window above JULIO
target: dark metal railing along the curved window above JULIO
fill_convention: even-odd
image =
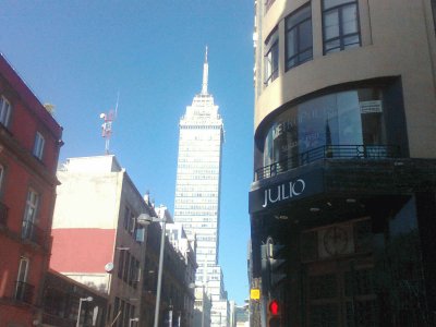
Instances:
[[[391,145],[325,145],[257,169],[254,180],[271,178],[322,159],[385,159],[399,155],[400,148]]]

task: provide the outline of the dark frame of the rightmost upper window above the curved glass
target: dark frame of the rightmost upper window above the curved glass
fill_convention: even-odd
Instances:
[[[323,28],[323,55],[329,55],[329,53],[334,53],[334,52],[340,52],[343,51],[346,49],[349,48],[355,48],[355,47],[362,47],[362,35],[361,35],[361,22],[360,22],[360,11],[359,11],[359,1],[358,0],[344,0],[342,3],[337,4],[337,5],[332,5],[328,9],[325,8],[325,2],[326,0],[322,1],[322,28]],[[358,26],[358,32],[355,33],[349,33],[349,34],[343,34],[343,22],[342,22],[342,17],[343,17],[343,10],[347,7],[351,7],[354,5],[355,7],[355,11],[356,11],[356,26]],[[327,13],[330,12],[337,12],[338,13],[338,36],[336,37],[331,37],[329,39],[326,38],[326,26],[325,26],[325,22],[326,22],[326,15]],[[358,36],[359,37],[359,44],[349,44],[346,45],[344,44],[344,39],[347,37],[352,37],[352,36]],[[329,50],[326,49],[326,45],[328,43],[335,41],[335,40],[339,40],[339,47],[335,47],[331,48]],[[350,47],[356,45],[354,47]]]

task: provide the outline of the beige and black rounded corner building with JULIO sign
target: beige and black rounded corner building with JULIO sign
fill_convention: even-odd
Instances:
[[[255,1],[255,326],[271,299],[280,326],[434,326],[433,9]],[[286,246],[277,283],[268,238]]]

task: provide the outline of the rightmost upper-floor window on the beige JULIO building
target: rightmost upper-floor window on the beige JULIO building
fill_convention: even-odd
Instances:
[[[358,1],[323,1],[324,55],[360,47]]]

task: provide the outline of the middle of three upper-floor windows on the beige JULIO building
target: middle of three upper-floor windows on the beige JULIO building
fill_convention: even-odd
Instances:
[[[311,5],[305,5],[286,19],[286,69],[312,59]]]

